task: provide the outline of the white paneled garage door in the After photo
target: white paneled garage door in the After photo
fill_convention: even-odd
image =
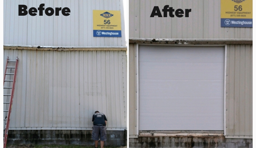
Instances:
[[[138,52],[139,130],[224,130],[224,46]]]

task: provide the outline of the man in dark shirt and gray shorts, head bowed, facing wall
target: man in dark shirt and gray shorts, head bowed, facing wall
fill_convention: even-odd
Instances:
[[[99,111],[95,111],[94,115],[92,116],[92,134],[91,139],[95,142],[95,148],[98,148],[98,140],[100,136],[100,147],[103,148],[104,141],[106,141],[106,125],[107,125],[107,118],[103,113]]]

